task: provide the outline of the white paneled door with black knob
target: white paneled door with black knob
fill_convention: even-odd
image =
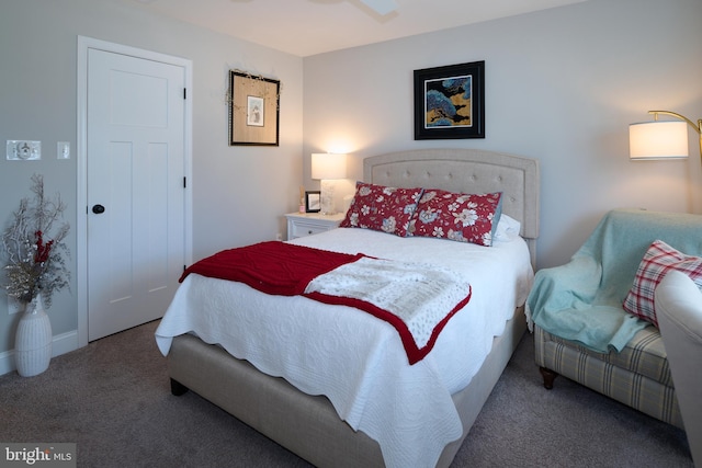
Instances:
[[[88,340],[163,315],[185,263],[183,67],[89,49]]]

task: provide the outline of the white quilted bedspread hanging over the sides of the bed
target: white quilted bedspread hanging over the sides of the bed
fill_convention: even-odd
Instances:
[[[410,366],[397,331],[370,313],[191,274],[156,331],[160,351],[168,354],[172,336],[194,332],[306,393],[327,396],[342,420],[378,442],[386,466],[435,466],[463,431],[451,395],[471,381],[526,298],[533,279],[526,244],[518,238],[485,248],[365,229],[293,243],[440,264],[461,272],[473,295],[432,352]]]

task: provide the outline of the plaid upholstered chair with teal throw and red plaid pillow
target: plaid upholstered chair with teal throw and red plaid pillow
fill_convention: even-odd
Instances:
[[[683,427],[654,290],[670,269],[702,275],[701,232],[702,216],[615,209],[570,262],[540,270],[526,309],[544,386],[562,375]]]

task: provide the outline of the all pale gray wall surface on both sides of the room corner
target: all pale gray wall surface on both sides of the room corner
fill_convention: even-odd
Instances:
[[[44,153],[38,162],[0,158],[0,225],[41,172],[47,190],[69,202],[76,226],[76,159],[56,160],[55,148],[68,140],[76,149],[76,37],[83,35],[193,60],[194,260],[284,230],[281,215],[296,208],[298,185],[318,186],[312,152],[349,151],[353,179],[366,156],[472,147],[541,160],[537,262],[559,264],[609,208],[702,213],[692,132],[689,161],[627,159],[627,125],[648,119],[646,111],[702,116],[700,18],[700,0],[589,0],[301,59],[151,16],[132,1],[0,0],[0,142],[37,139]],[[474,60],[486,60],[487,137],[415,141],[412,70]],[[230,68],[283,82],[279,148],[227,147]],[[75,252],[75,232],[68,241]],[[56,335],[77,328],[75,255],[70,265],[72,294],[61,293],[49,311]],[[0,361],[19,319],[5,309],[0,294]]]

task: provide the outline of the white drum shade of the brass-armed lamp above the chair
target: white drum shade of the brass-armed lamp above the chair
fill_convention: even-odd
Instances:
[[[684,122],[644,122],[629,126],[631,159],[687,158],[688,149]]]

